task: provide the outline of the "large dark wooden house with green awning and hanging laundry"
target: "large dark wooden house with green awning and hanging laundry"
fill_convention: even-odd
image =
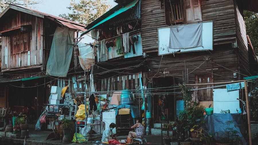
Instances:
[[[142,54],[125,57],[128,52],[124,49],[127,47],[124,40],[122,40],[123,53],[108,57],[110,53],[117,52],[118,46],[114,46],[115,43],[112,46],[107,45],[107,52],[100,50],[101,54],[96,55],[97,62],[93,68],[98,91],[109,94],[113,90],[139,89],[140,82],[147,88],[156,88],[182,83],[237,81],[243,77],[256,75],[250,73],[253,72],[253,68],[250,68],[249,57],[253,56],[249,55],[243,19],[243,10],[257,12],[257,4],[250,6],[250,3],[255,1],[117,0],[116,2],[118,3],[116,7],[89,24],[83,34],[90,31],[91,34],[96,34],[94,37],[98,46],[96,52],[99,47],[101,48],[101,44],[120,41],[121,36],[122,39],[126,39],[124,34],[127,32],[129,37],[139,35],[141,46],[135,47],[135,50],[141,49]],[[129,49],[132,50],[132,47]],[[212,104],[220,110],[225,109],[213,102],[214,96],[218,96],[214,90],[223,88],[225,87],[199,90],[198,101],[206,107]],[[163,101],[167,102],[163,112],[166,119],[175,119],[178,110],[183,106],[181,90],[172,88],[155,92],[156,94],[150,95],[152,108],[147,110],[152,112],[153,121],[160,121],[158,102],[164,98],[166,99]],[[237,94],[242,98],[244,93],[240,89]],[[232,106],[237,105],[232,104]],[[236,109],[231,111],[234,113]]]

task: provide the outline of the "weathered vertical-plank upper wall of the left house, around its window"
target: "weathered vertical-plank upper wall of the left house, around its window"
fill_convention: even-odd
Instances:
[[[3,25],[2,30],[8,30],[10,28],[16,28],[24,25],[31,25],[32,30],[30,33],[30,51],[17,54],[11,53],[11,38],[9,36],[4,36],[2,38],[3,49],[1,54],[3,64],[2,71],[9,70],[10,68],[42,64],[43,39],[41,38],[43,35],[43,19],[22,12],[17,13],[19,15],[12,15],[11,20],[8,20],[7,23]],[[9,24],[9,21],[12,21],[11,25]],[[5,58],[6,56],[7,62]]]

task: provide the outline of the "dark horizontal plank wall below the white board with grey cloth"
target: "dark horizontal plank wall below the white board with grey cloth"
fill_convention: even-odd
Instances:
[[[225,49],[228,51],[225,52]],[[205,61],[204,56],[210,56],[210,60]],[[148,75],[149,79],[153,77],[174,77],[175,84],[183,83],[183,74],[188,69],[188,83],[196,83],[196,75],[209,75],[212,74],[214,83],[236,81],[240,79],[233,78],[232,70],[239,70],[237,63],[236,52],[230,48],[230,45],[221,48],[216,48],[210,54],[209,52],[192,52],[172,55],[156,56],[149,59],[148,67],[151,72]],[[216,64],[214,64],[215,62]],[[202,64],[203,63],[203,64]],[[219,66],[219,65],[221,66]],[[200,66],[200,67],[199,67]],[[224,67],[226,68],[224,68]],[[218,68],[217,70],[207,70]],[[228,69],[227,69],[228,68]],[[157,73],[159,69],[160,73]],[[229,70],[231,69],[231,70]],[[163,71],[169,71],[169,74],[163,74]],[[157,75],[155,75],[157,73]],[[172,84],[171,84],[172,85]]]

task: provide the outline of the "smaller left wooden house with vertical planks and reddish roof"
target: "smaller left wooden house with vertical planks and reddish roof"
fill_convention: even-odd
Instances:
[[[56,79],[46,75],[56,29],[71,31],[72,42],[67,45],[72,46],[71,55],[76,55],[74,44],[79,41],[78,32],[85,31],[84,27],[54,15],[9,5],[0,14],[0,107],[11,107],[19,112],[30,106],[37,116],[40,115],[41,106],[48,103],[51,85]],[[74,58],[70,61],[74,68]]]

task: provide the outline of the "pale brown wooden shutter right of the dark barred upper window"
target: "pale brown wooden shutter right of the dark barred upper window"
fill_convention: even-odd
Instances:
[[[202,21],[200,0],[185,0],[185,22],[192,23]]]

